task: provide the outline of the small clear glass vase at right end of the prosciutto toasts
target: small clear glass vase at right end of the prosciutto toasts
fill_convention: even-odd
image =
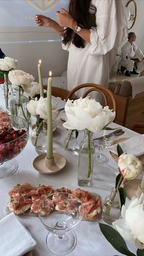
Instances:
[[[104,200],[102,218],[108,224],[112,224],[120,218],[120,204],[118,202],[118,194],[115,192],[115,188],[112,188],[109,196]]]

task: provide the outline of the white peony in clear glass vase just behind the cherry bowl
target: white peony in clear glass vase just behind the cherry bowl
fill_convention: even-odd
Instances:
[[[10,100],[10,112],[12,115],[24,117],[29,121],[30,115],[26,109],[29,99],[23,95],[23,86],[31,84],[34,77],[22,70],[13,70],[9,72],[9,80],[12,82],[12,86],[16,86],[15,95]]]

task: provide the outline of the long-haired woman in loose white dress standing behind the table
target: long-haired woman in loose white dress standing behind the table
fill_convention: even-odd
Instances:
[[[58,23],[43,15],[35,15],[35,22],[62,36],[62,47],[69,51],[68,90],[85,82],[107,87],[112,49],[128,35],[121,0],[70,0],[68,12],[61,8],[56,16]]]

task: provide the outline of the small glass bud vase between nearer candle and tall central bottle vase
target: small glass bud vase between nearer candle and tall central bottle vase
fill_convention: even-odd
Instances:
[[[70,130],[68,137],[65,138],[63,145],[67,150],[74,151],[77,147],[77,139],[73,136],[73,130]]]

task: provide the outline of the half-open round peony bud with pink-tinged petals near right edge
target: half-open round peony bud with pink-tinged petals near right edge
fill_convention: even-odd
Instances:
[[[131,154],[120,155],[118,167],[123,178],[126,180],[134,180],[143,170],[142,162]]]

